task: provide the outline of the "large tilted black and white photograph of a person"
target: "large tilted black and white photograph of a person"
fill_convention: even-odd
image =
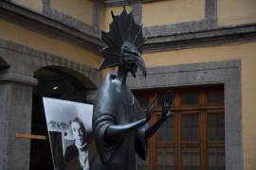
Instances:
[[[89,170],[93,105],[43,97],[54,168]]]

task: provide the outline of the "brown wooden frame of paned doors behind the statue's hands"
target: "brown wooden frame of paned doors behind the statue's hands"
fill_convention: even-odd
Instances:
[[[181,93],[198,91],[198,105],[197,106],[182,106],[181,105]],[[176,88],[174,90],[174,101],[171,110],[174,111],[172,119],[174,119],[174,141],[170,142],[157,142],[156,134],[149,140],[149,170],[156,170],[156,157],[157,148],[159,147],[171,147],[174,149],[174,169],[182,169],[182,148],[183,147],[198,147],[199,148],[199,168],[207,170],[209,164],[208,149],[213,147],[222,147],[225,150],[225,141],[221,142],[208,142],[208,114],[211,112],[224,113],[224,103],[221,105],[209,105],[207,103],[207,92],[221,92],[224,95],[223,86],[211,86],[211,87],[196,87],[196,88]],[[167,89],[150,90],[144,92],[136,92],[137,95],[148,95],[148,101],[150,101],[155,93],[167,93]],[[142,107],[142,110],[145,110]],[[155,106],[153,118],[151,123],[157,120],[157,117],[161,114],[161,106]],[[182,115],[197,114],[198,115],[198,141],[196,142],[182,142],[181,136],[181,118]],[[225,129],[224,129],[225,130]]]

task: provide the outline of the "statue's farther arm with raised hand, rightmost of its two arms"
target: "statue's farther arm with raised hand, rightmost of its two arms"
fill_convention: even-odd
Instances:
[[[172,105],[174,97],[174,92],[168,93],[166,99],[162,103],[162,115],[161,117],[155,122],[154,125],[146,127],[146,138],[152,137],[156,130],[161,127],[161,125],[173,114],[170,110],[170,106]]]

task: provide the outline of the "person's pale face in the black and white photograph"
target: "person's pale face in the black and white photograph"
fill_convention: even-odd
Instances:
[[[72,122],[71,124],[73,138],[78,146],[85,144],[85,130],[78,122]]]

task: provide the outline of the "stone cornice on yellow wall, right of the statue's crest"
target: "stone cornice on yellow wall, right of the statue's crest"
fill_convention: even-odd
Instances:
[[[232,42],[255,42],[256,24],[219,27],[204,31],[149,37],[143,45],[144,53],[215,46]]]

